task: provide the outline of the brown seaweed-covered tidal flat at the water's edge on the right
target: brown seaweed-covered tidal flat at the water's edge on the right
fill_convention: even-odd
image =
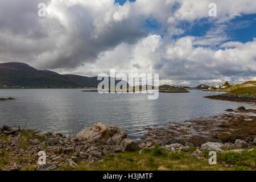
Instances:
[[[202,117],[184,122],[170,122],[164,126],[147,127],[145,142],[158,142],[162,145],[172,143],[192,143],[201,146],[207,142],[234,143],[236,139],[245,140],[248,146],[255,144],[256,110],[239,107],[228,109],[227,113]]]

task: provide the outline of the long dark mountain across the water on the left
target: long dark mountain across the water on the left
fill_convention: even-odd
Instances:
[[[97,77],[60,75],[49,70],[38,70],[24,63],[0,63],[0,86],[35,88],[79,88],[97,86]],[[115,81],[116,83],[119,81]]]

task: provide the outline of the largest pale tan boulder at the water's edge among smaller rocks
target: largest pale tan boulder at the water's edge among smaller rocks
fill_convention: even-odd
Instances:
[[[115,125],[107,125],[104,123],[95,123],[94,125],[80,131],[77,137],[87,138],[100,143],[107,143],[109,138],[120,143],[122,139],[127,137],[126,132]]]

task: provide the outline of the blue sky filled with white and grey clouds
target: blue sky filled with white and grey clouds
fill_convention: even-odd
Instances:
[[[0,0],[0,63],[196,86],[256,80],[255,60],[253,0]]]

